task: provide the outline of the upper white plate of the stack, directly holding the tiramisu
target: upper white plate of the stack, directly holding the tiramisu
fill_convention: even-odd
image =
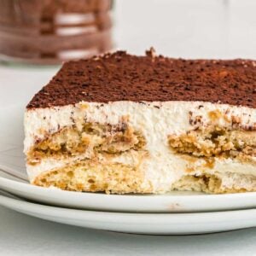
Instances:
[[[23,148],[23,111],[0,109],[0,169],[26,180]],[[168,195],[105,195],[44,189],[0,172],[0,188],[55,206],[113,212],[206,212],[256,207],[256,193],[205,195],[172,192]]]

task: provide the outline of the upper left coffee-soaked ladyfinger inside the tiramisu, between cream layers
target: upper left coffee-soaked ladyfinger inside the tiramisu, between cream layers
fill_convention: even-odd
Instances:
[[[86,154],[93,158],[98,153],[121,154],[145,145],[141,132],[134,131],[123,119],[118,125],[84,123],[81,127],[66,127],[38,141],[27,153],[30,164],[47,157],[68,157]]]

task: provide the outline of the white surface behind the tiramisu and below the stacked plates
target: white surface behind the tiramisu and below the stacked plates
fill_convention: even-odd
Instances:
[[[254,0],[116,0],[119,49],[174,57],[256,59]],[[56,67],[0,67],[0,107],[29,101]],[[0,124],[3,120],[0,120]],[[256,255],[256,229],[137,236],[55,224],[0,207],[0,255]]]

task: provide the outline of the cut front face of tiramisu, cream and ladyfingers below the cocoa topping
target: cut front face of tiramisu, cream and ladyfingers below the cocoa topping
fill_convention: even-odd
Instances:
[[[32,108],[25,115],[27,172],[32,183],[79,191],[253,191],[255,131],[256,109],[210,102]]]

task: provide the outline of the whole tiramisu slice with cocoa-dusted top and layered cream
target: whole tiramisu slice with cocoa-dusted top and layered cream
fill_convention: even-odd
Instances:
[[[71,61],[25,113],[31,183],[75,191],[256,191],[256,61],[124,51]]]

